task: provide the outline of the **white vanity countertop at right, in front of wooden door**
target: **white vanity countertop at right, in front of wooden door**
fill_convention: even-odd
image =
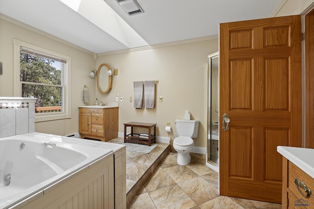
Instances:
[[[314,149],[277,146],[277,152],[314,178]]]

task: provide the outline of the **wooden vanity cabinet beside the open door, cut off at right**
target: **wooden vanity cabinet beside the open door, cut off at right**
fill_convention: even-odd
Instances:
[[[308,189],[314,192],[314,179],[298,166],[283,157],[283,198],[282,209],[310,209],[314,208],[314,194],[308,197],[307,193],[294,183],[295,178],[302,181]],[[298,189],[299,188],[299,189]],[[302,193],[300,193],[300,191]]]

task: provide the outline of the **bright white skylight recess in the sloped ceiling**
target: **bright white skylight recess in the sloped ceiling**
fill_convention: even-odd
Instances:
[[[148,46],[104,0],[60,0],[129,48]]]

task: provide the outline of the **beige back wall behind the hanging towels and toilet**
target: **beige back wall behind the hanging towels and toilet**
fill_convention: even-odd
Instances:
[[[206,147],[207,139],[207,82],[208,55],[218,50],[218,39],[157,47],[126,53],[100,56],[96,66],[102,63],[118,69],[113,76],[109,93],[96,93],[101,101],[115,101],[116,91],[123,97],[119,109],[119,132],[124,132],[123,123],[130,121],[157,123],[157,136],[177,137],[175,119],[183,119],[189,110],[191,119],[200,120],[199,135],[194,145]],[[156,84],[155,109],[135,109],[133,81],[159,80]],[[163,102],[159,102],[159,96]],[[171,133],[164,131],[170,122]]]

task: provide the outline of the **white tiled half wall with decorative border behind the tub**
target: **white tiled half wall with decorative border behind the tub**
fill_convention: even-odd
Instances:
[[[36,98],[0,97],[0,138],[35,131]]]

